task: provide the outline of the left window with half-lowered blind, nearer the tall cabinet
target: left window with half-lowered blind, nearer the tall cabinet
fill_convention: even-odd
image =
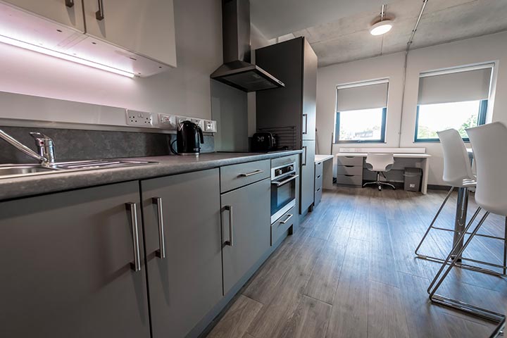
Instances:
[[[384,142],[389,82],[337,87],[335,143]]]

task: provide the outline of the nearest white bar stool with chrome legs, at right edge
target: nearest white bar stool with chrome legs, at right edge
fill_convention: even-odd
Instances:
[[[468,313],[472,313],[473,315],[479,315],[489,320],[501,322],[505,320],[505,315],[503,315],[503,313],[496,313],[495,311],[480,308],[479,306],[474,306],[472,304],[451,299],[436,293],[437,289],[439,289],[440,285],[444,282],[447,275],[449,275],[452,268],[456,266],[457,260],[451,260],[451,258],[453,256],[461,256],[463,251],[465,251],[468,247],[468,244],[470,244],[472,239],[474,239],[477,235],[477,232],[484,224],[484,221],[487,219],[489,213],[496,213],[497,215],[505,216],[507,224],[507,180],[505,180],[504,177],[507,165],[507,127],[501,123],[490,123],[488,125],[470,128],[467,130],[467,133],[468,137],[470,137],[470,143],[472,144],[472,149],[474,151],[475,164],[477,165],[477,188],[475,190],[475,202],[479,208],[477,208],[477,211],[465,227],[465,230],[458,239],[458,243],[465,238],[466,234],[468,234],[468,230],[474,223],[478,212],[481,209],[484,209],[486,213],[484,213],[474,230],[470,232],[470,236],[465,241],[465,244],[463,244],[461,249],[457,250],[458,244],[453,247],[437,275],[435,275],[432,280],[427,292],[430,294],[430,300],[435,303],[457,308],[458,310],[466,311]],[[505,266],[506,251],[507,246],[504,246],[503,266],[498,265],[499,268],[503,268],[503,277],[507,276]],[[447,266],[449,262],[450,264]],[[442,274],[445,268],[446,270]],[[442,277],[440,277],[441,275]]]

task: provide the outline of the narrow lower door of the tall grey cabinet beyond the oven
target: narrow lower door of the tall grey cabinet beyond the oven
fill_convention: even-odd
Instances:
[[[305,213],[315,195],[315,141],[303,141],[303,159],[301,160],[301,208],[299,213]]]

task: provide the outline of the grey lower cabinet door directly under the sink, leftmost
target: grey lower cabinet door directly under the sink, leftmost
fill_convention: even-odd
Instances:
[[[150,337],[129,202],[137,182],[0,203],[2,337]]]

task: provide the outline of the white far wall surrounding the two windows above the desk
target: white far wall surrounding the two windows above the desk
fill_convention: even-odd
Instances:
[[[432,155],[429,183],[444,184],[442,182],[443,160],[440,144],[413,142],[419,74],[427,70],[495,62],[492,100],[488,107],[489,119],[507,123],[507,95],[505,94],[507,93],[507,68],[505,66],[507,63],[507,32],[410,51],[402,108],[403,61],[404,53],[399,53],[329,65],[318,69],[318,153],[330,154],[332,148],[332,153],[335,154],[339,147],[347,146],[347,144],[331,146],[330,142],[331,133],[334,130],[336,86],[347,82],[389,78],[386,143],[353,144],[353,147],[426,147],[427,153]]]

